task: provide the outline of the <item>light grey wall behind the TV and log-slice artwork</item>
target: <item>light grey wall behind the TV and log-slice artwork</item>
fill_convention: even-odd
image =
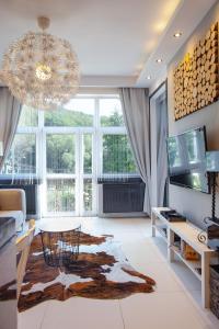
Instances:
[[[180,49],[168,68],[169,134],[175,135],[197,126],[206,125],[209,150],[219,150],[219,101],[175,122],[173,116],[173,69],[187,52],[193,50],[197,41],[205,35],[211,23],[216,21],[219,21],[219,3],[210,10],[197,26],[191,38]],[[211,213],[211,195],[170,185],[170,206],[186,215],[196,225],[201,226],[203,218],[210,216]],[[219,217],[219,193],[217,195],[217,216]]]

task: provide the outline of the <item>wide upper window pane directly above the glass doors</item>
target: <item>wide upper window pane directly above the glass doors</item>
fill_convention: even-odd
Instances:
[[[71,126],[90,127],[93,126],[94,100],[73,99],[64,109],[45,112],[46,126]]]

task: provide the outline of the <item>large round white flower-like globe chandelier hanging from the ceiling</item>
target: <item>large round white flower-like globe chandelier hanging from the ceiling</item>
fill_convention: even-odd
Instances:
[[[49,19],[37,21],[42,32],[28,32],[9,47],[0,77],[21,103],[51,110],[76,94],[79,63],[69,42],[46,33]]]

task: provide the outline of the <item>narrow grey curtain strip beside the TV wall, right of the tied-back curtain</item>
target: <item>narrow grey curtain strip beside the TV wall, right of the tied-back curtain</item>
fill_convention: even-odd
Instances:
[[[164,193],[168,179],[168,154],[166,154],[166,137],[168,137],[168,114],[166,99],[162,94],[157,100],[157,122],[158,122],[158,145],[157,145],[157,182],[158,182],[158,206],[164,205]]]

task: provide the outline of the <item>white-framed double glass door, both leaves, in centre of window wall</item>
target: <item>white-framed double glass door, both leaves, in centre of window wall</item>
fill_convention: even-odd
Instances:
[[[44,216],[95,214],[93,133],[45,134]]]

